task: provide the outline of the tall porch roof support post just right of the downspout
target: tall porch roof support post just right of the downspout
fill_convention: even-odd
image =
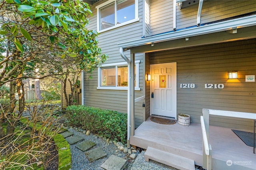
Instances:
[[[134,53],[130,54],[130,136],[134,136]]]

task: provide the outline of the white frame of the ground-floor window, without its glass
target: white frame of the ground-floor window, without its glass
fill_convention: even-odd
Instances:
[[[134,90],[140,90],[139,84],[140,84],[140,60],[136,60],[134,62],[135,66],[136,66],[136,84],[135,84],[135,88]],[[116,70],[118,66],[128,66],[128,64],[126,62],[120,62],[120,63],[109,63],[109,64],[102,64],[100,67],[98,67],[98,87],[97,89],[101,89],[101,90],[128,90],[128,87],[122,87],[122,86],[100,86],[100,82],[101,82],[101,68],[103,67],[109,67],[109,66],[116,66]],[[116,74],[117,75],[117,74]]]

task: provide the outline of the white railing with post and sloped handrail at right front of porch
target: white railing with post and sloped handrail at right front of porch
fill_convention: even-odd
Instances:
[[[238,111],[225,111],[214,109],[203,109],[203,116],[200,117],[202,133],[203,133],[203,168],[211,170],[211,145],[208,145],[209,141],[209,115],[237,117],[244,119],[256,120],[256,113],[238,112]],[[255,126],[255,125],[254,125]],[[207,147],[208,145],[208,147]],[[209,151],[209,152],[208,152]],[[208,154],[209,153],[209,154]]]

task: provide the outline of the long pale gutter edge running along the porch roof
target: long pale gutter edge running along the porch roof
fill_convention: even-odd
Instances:
[[[163,33],[163,34],[155,35],[152,37],[126,41],[123,43],[118,43],[118,47],[122,49],[131,49],[133,47],[138,47],[143,45],[149,45],[149,44],[154,45],[154,43],[172,41],[172,40],[183,39],[188,37],[196,37],[199,35],[218,33],[222,31],[240,29],[240,28],[250,27],[254,25],[256,25],[256,15],[237,18],[234,20],[222,21],[218,23],[212,23],[212,24],[193,27],[190,29],[184,29],[180,31]]]

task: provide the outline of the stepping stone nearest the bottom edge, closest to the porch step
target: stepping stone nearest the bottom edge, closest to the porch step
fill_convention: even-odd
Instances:
[[[125,165],[125,159],[111,155],[100,167],[105,170],[122,170]]]

